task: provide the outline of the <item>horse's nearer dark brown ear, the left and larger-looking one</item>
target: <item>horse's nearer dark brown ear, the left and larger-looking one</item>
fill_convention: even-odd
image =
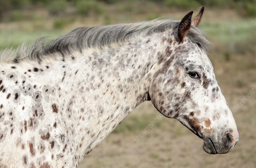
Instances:
[[[193,11],[189,12],[184,18],[180,21],[180,25],[177,29],[177,40],[180,43],[182,39],[188,34],[191,25],[191,17]]]

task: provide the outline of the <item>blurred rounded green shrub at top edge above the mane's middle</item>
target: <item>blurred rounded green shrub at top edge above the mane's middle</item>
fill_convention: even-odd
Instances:
[[[85,16],[99,15],[105,11],[104,5],[96,0],[77,1],[75,8],[78,14]]]

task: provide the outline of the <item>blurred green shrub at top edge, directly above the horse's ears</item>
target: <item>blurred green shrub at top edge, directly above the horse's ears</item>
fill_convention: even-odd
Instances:
[[[177,7],[182,9],[197,8],[200,4],[196,0],[165,0],[164,5],[167,7]]]

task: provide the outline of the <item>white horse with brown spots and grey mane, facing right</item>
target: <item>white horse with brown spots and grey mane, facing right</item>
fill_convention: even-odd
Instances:
[[[239,139],[192,19],[76,28],[0,58],[0,167],[78,167],[132,110],[151,101],[204,140],[209,154]]]

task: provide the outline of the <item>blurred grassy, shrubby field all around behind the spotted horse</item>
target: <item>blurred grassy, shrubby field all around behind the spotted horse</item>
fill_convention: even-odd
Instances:
[[[54,39],[80,26],[182,19],[205,7],[199,28],[212,42],[210,60],[231,109],[256,87],[255,0],[0,0],[0,50],[38,37]],[[195,15],[194,15],[195,16]],[[254,93],[254,92],[252,92]],[[138,106],[84,159],[84,167],[256,167],[256,93],[233,115],[240,140],[228,154],[209,155],[203,140],[175,119],[162,117],[151,102]]]

